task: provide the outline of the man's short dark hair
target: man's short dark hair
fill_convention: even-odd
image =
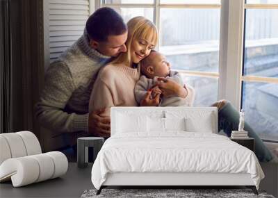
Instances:
[[[127,28],[115,10],[104,7],[90,15],[86,22],[86,30],[90,39],[105,42],[109,35],[122,35]]]

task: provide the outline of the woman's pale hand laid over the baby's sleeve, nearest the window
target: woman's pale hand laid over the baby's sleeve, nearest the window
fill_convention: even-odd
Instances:
[[[185,88],[170,79],[160,77],[158,78],[158,82],[156,83],[156,85],[158,85],[158,88],[161,89],[163,97],[175,96],[186,98],[188,94]]]

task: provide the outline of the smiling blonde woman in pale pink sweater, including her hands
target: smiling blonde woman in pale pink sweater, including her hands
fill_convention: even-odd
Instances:
[[[89,112],[106,108],[104,115],[110,116],[112,106],[139,105],[134,96],[134,87],[140,78],[137,64],[156,47],[158,33],[156,26],[145,17],[129,20],[127,28],[126,52],[100,70],[90,96]],[[190,97],[190,93],[174,81],[161,83],[161,88],[164,95]],[[150,94],[147,92],[140,106],[158,106],[159,95],[152,99]]]

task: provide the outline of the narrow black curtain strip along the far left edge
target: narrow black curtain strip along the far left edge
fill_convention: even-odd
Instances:
[[[10,88],[11,88],[11,38],[10,0],[1,1],[0,19],[0,133],[10,131]]]

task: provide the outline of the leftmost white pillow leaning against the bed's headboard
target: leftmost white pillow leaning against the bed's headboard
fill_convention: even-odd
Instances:
[[[117,133],[147,131],[147,116],[117,114]]]

